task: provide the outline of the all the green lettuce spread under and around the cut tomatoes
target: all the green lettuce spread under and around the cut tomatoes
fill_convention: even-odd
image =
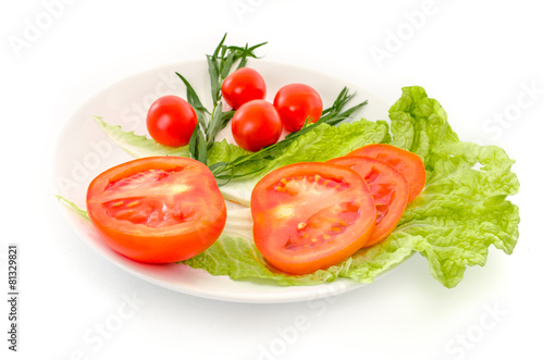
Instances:
[[[238,174],[254,173],[252,178],[233,181],[222,187],[226,199],[248,206],[255,183],[273,169],[295,162],[326,161],[371,142],[391,142],[423,159],[426,185],[386,240],[361,249],[330,269],[290,276],[267,266],[249,238],[249,212],[242,211],[231,214],[224,234],[214,245],[184,263],[212,275],[259,278],[280,285],[322,284],[338,277],[370,283],[419,252],[428,259],[432,276],[444,286],[454,287],[462,280],[467,266],[485,264],[491,245],[510,255],[518,239],[520,221],[519,209],[507,200],[519,189],[516,174],[511,172],[514,160],[499,147],[460,141],[444,109],[421,87],[403,89],[401,97],[390,110],[390,120],[391,134],[382,121],[318,126],[294,141],[280,157],[249,162],[237,170]],[[133,156],[188,156],[184,149],[159,146],[101,120],[99,124]],[[228,162],[243,154],[247,151],[221,141],[212,147],[208,160],[210,164]]]

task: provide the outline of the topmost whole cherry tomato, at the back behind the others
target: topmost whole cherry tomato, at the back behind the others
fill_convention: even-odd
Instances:
[[[267,85],[257,71],[240,67],[223,80],[221,92],[225,102],[236,110],[248,101],[264,99]]]

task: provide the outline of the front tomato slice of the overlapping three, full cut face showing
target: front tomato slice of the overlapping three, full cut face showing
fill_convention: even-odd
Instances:
[[[362,177],[333,164],[276,169],[251,194],[255,245],[277,270],[307,274],[359,250],[375,223],[374,200]]]

